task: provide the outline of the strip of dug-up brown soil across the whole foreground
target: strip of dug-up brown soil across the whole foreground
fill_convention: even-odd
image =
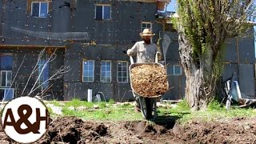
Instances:
[[[15,143],[1,132],[1,143]],[[95,122],[75,117],[55,118],[34,143],[255,143],[255,118],[190,121],[174,118],[155,122]]]

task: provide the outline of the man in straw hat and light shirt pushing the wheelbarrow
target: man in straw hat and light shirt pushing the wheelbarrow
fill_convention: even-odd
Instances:
[[[137,63],[154,62],[156,54],[158,54],[158,58],[160,59],[162,54],[158,51],[157,45],[151,42],[151,38],[154,34],[150,29],[143,30],[140,35],[143,41],[136,42],[131,49],[127,50],[127,54],[129,56],[136,55]],[[135,98],[135,110],[140,111],[139,98],[136,96]]]

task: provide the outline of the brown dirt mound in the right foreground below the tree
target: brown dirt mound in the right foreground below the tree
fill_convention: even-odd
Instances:
[[[256,121],[254,119],[234,118],[229,121],[190,122],[178,129],[174,138],[178,142],[256,143]]]

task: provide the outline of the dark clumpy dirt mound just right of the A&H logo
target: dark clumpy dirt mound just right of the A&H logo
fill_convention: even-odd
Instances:
[[[84,122],[75,117],[61,117],[51,122],[47,134],[39,143],[94,142],[106,134],[107,127],[102,123]]]

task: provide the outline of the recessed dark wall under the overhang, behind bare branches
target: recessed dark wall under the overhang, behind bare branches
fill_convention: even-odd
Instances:
[[[30,93],[30,90],[34,90],[31,95],[41,93],[41,89],[34,89],[38,85],[34,84],[38,78],[37,69],[38,54],[42,49],[28,49],[23,48],[18,50],[17,48],[6,48],[6,50],[0,49],[0,54],[12,54],[13,55],[13,67],[12,67],[12,88],[15,89],[16,96],[26,96]],[[63,66],[63,50],[56,51],[56,58],[53,62],[49,63],[49,74],[53,75],[56,71]],[[50,90],[44,94],[45,99],[63,99],[63,79],[51,81]]]

